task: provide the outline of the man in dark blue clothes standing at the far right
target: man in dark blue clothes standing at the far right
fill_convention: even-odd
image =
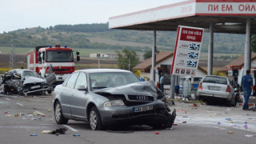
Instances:
[[[242,90],[243,90],[243,106],[242,110],[248,110],[248,101],[251,91],[253,89],[253,78],[250,76],[250,70],[246,70],[246,75],[242,76]]]

